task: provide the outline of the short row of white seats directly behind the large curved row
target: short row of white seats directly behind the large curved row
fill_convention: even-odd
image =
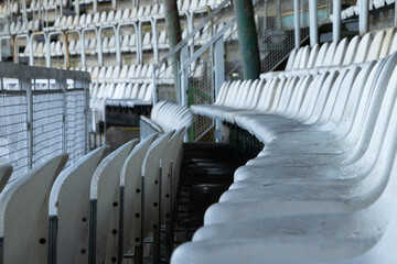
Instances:
[[[361,64],[377,58],[384,58],[397,51],[397,34],[395,28],[380,30],[374,36],[367,33],[364,36],[354,36],[351,41],[343,38],[340,42],[324,43],[321,46],[303,46],[293,50],[288,57],[286,70],[270,72],[261,78],[271,78],[278,74],[315,74],[330,67]]]

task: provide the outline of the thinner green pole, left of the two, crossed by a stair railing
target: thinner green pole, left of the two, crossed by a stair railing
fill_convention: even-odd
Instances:
[[[164,0],[164,11],[165,11],[165,20],[169,32],[169,42],[170,42],[170,51],[172,51],[178,43],[182,41],[181,33],[181,23],[180,16],[178,12],[178,3],[176,0]],[[179,63],[180,62],[180,53],[175,53],[172,58],[173,63],[173,76],[174,76],[174,86],[175,86],[175,97],[179,98]]]

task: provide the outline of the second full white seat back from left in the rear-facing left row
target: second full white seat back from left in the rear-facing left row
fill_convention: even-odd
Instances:
[[[103,146],[62,172],[50,195],[50,263],[88,263],[89,186],[108,151]]]

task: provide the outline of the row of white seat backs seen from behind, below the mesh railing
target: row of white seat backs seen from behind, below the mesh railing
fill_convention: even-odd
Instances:
[[[182,128],[133,140],[109,155],[103,146],[64,170],[63,154],[11,176],[6,187],[12,167],[0,167],[0,261],[115,263],[138,253],[144,238],[159,249],[174,209],[184,134]]]

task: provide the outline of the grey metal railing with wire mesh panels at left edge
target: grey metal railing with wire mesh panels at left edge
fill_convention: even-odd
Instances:
[[[0,165],[13,177],[62,154],[88,152],[87,73],[0,63]]]

